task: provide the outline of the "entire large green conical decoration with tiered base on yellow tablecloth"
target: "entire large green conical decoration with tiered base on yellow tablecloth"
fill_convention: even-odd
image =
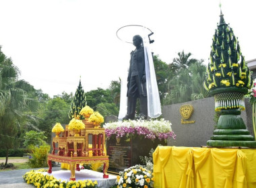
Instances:
[[[220,111],[220,118],[207,146],[256,147],[241,118],[241,110],[245,109],[244,95],[251,85],[251,72],[238,40],[220,11],[220,24],[212,38],[207,82],[204,83],[205,89],[214,95],[215,110]]]

